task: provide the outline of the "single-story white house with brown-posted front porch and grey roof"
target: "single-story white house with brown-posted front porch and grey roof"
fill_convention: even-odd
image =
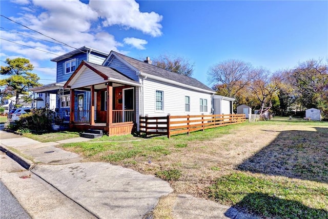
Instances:
[[[64,86],[71,91],[71,127],[100,128],[103,124],[101,128],[109,134],[122,134],[138,127],[140,115],[212,114],[215,91],[195,78],[150,62],[149,57],[142,62],[114,51],[103,65],[82,62]],[[86,98],[80,90],[91,94]],[[86,108],[85,102],[91,107]]]

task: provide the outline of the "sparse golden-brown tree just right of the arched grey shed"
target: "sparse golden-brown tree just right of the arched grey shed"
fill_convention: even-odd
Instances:
[[[269,70],[260,67],[252,71],[251,78],[250,89],[261,103],[259,114],[263,117],[272,107],[271,98],[279,89],[281,77],[278,73],[272,74]],[[269,106],[265,107],[265,103],[269,103]]]

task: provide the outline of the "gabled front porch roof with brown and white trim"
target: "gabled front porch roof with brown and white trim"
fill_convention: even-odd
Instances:
[[[94,73],[99,75],[104,79],[104,81],[108,82],[114,82],[117,84],[126,84],[126,85],[132,85],[132,86],[141,86],[141,84],[134,79],[120,73],[116,69],[107,67],[107,66],[102,66],[102,65],[97,65],[94,63],[86,62],[83,61],[75,70],[75,72],[71,75],[71,77],[68,79],[68,81],[65,83],[64,88],[71,87],[78,76],[83,73],[83,71],[89,68],[92,70]]]

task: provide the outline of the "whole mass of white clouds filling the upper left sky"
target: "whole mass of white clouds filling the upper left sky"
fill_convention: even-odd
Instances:
[[[162,34],[162,26],[160,25],[162,16],[155,12],[140,12],[139,4],[133,0],[90,0],[89,4],[78,0],[15,0],[12,3],[18,4],[20,9],[18,14],[10,17],[13,21],[51,36],[59,42],[64,42],[74,48],[89,46],[106,53],[115,50],[124,54],[129,52],[119,50],[124,45],[145,49],[145,45],[148,42],[144,39],[126,37],[123,43],[116,41],[113,34],[104,30],[104,27],[112,25],[120,25],[126,29],[133,28],[151,36],[160,36]],[[102,21],[102,23],[99,21]],[[13,25],[10,29],[12,31],[0,31],[3,38],[14,42],[1,41],[0,51],[8,55],[8,57],[13,55],[27,57],[33,63],[40,63],[73,50],[73,48],[31,38],[29,36],[53,41],[22,26]],[[28,36],[17,34],[13,31],[22,32]],[[39,50],[48,51],[56,55]]]

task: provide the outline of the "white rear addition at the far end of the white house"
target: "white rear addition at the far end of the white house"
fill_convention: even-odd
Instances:
[[[234,101],[234,98],[213,95],[213,114],[233,114]]]

